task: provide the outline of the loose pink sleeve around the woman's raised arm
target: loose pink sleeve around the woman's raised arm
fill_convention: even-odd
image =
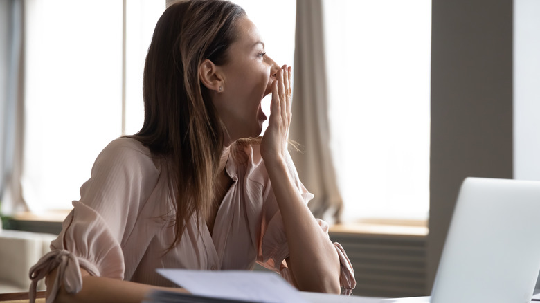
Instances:
[[[294,163],[288,153],[286,159],[287,167],[289,168],[289,176],[292,176],[294,184],[298,188],[304,203],[307,204],[313,199],[314,195],[308,192],[300,182]],[[265,186],[263,199],[262,241],[260,241],[259,245],[258,263],[265,268],[277,271],[283,278],[287,279],[289,283],[292,283],[289,268],[287,268],[287,263],[285,262],[285,259],[289,257],[289,246],[287,245],[287,237],[285,236],[285,228],[283,226],[278,203],[276,197],[273,195],[270,183],[267,183],[267,186]],[[328,224],[321,219],[316,219],[316,221],[321,229],[328,234]],[[336,248],[341,266],[340,284],[343,288],[343,294],[350,295],[352,289],[356,286],[354,270],[341,244],[334,243],[334,248]]]

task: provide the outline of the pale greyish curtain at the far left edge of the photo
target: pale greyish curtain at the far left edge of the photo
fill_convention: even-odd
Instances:
[[[0,213],[26,210],[21,192],[24,0],[0,1]]]

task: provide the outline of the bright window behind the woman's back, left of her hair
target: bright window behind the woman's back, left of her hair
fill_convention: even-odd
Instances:
[[[123,77],[123,1],[28,1],[22,183],[33,212],[71,208],[101,149],[142,125],[141,66],[165,1],[125,3]]]

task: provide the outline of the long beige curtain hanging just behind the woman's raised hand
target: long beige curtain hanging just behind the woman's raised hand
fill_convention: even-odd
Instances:
[[[330,153],[322,0],[296,0],[293,118],[289,138],[302,152],[291,156],[300,180],[315,195],[315,217],[340,222],[343,201]]]

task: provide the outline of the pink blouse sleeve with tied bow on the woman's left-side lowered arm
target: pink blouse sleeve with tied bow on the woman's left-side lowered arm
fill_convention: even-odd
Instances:
[[[155,169],[132,139],[115,140],[102,151],[91,178],[81,187],[80,201],[73,201],[62,232],[51,242],[51,252],[30,268],[31,303],[37,282],[55,268],[57,275],[48,288],[47,303],[55,300],[61,285],[68,293],[82,289],[80,268],[94,276],[124,278],[123,241],[132,232],[141,201],[149,191],[145,188],[147,176]]]

